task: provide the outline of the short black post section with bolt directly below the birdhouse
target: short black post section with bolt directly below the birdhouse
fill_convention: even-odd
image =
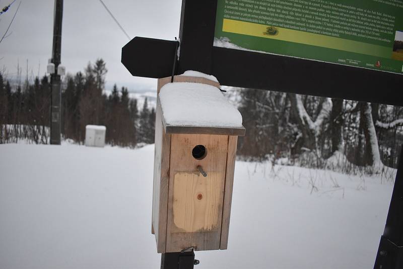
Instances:
[[[167,252],[161,254],[161,269],[193,269],[194,265],[199,264],[194,259],[194,251]]]

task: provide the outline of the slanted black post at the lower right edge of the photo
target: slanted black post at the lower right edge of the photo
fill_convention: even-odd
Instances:
[[[403,268],[403,147],[374,269]]]

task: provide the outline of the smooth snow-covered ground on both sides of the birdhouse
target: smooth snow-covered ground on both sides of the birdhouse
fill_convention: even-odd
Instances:
[[[0,145],[0,268],[158,268],[153,154]],[[229,249],[196,252],[196,268],[372,268],[392,188],[238,161]]]

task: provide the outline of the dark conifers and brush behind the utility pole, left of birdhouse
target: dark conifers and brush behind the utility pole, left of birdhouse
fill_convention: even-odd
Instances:
[[[106,143],[135,147],[154,143],[155,109],[147,99],[139,111],[128,89],[113,86],[105,93],[106,64],[102,59],[89,63],[84,72],[66,75],[62,86],[61,130],[64,139],[84,143],[85,126],[105,125]],[[27,139],[47,143],[50,122],[49,77],[35,78],[31,84],[18,83],[12,89],[0,74],[0,143]]]

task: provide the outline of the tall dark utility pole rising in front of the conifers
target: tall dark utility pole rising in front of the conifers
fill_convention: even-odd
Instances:
[[[54,1],[53,18],[53,50],[51,62],[54,64],[54,72],[50,76],[51,104],[50,104],[50,144],[60,145],[61,131],[61,87],[60,74],[57,67],[60,64],[61,54],[61,22],[63,17],[63,0]]]

